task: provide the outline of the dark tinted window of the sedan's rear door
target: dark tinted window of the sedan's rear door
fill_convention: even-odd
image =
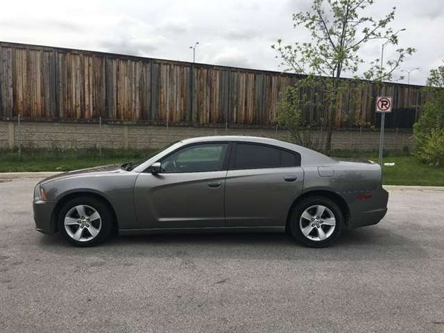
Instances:
[[[264,169],[300,166],[300,155],[258,144],[237,144],[234,169]]]

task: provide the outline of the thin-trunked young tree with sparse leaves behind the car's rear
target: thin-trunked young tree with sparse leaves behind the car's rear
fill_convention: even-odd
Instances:
[[[344,94],[362,84],[362,79],[366,80],[364,84],[391,80],[393,71],[404,58],[416,51],[410,47],[399,48],[395,58],[385,63],[380,59],[366,63],[360,55],[366,43],[384,40],[387,44],[398,44],[399,31],[394,32],[388,27],[395,18],[395,8],[381,19],[374,19],[364,15],[364,10],[371,4],[373,0],[314,0],[310,11],[293,14],[293,28],[307,29],[311,42],[284,45],[278,40],[278,44],[271,46],[286,71],[305,74],[295,85],[300,97],[300,103],[296,103],[300,114],[307,105],[327,108],[326,119],[323,119],[327,129],[327,154],[331,152],[334,110],[339,107]],[[343,75],[354,81],[341,79]]]

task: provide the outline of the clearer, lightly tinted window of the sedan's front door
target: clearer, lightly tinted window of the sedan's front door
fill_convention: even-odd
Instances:
[[[162,172],[187,173],[219,171],[228,144],[198,144],[185,147],[161,161]]]

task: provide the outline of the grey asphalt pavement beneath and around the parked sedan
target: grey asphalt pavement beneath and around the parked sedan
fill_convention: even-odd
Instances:
[[[34,230],[37,178],[0,180],[1,332],[444,332],[444,191],[391,189],[331,248],[285,234]]]

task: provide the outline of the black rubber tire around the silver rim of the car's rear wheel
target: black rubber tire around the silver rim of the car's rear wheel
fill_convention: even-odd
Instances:
[[[309,209],[310,207],[316,206],[316,205],[321,205],[321,206],[325,206],[327,207],[328,210],[330,210],[330,212],[332,212],[332,214],[334,214],[334,219],[335,219],[335,223],[336,225],[334,225],[334,229],[332,230],[331,234],[329,237],[327,237],[327,239],[324,240],[314,240],[315,238],[320,238],[320,237],[316,237],[316,234],[318,234],[317,229],[318,228],[322,228],[324,232],[324,234],[328,234],[330,232],[330,228],[332,228],[332,226],[327,225],[327,224],[317,224],[312,231],[305,236],[305,234],[302,233],[301,230],[301,225],[300,225],[300,221],[301,221],[301,216],[302,213],[305,212],[305,210]],[[330,212],[324,213],[324,214],[330,214]],[[312,212],[312,211],[310,211]],[[323,215],[323,216],[327,216],[327,215]],[[316,218],[315,218],[316,219]],[[306,219],[302,219],[302,227],[304,227],[305,225],[303,223],[305,223]],[[319,220],[321,221],[321,220]],[[307,226],[308,224],[311,223],[311,221],[307,221]],[[317,223],[317,221],[313,221],[313,223]],[[310,224],[311,225],[311,224]],[[296,241],[298,241],[300,244],[303,244],[305,246],[309,246],[311,248],[325,248],[326,246],[330,246],[334,241],[336,241],[336,239],[338,239],[342,232],[343,232],[343,228],[345,225],[345,221],[344,221],[344,216],[343,216],[343,212],[341,211],[341,209],[339,208],[338,205],[336,205],[336,203],[334,203],[333,200],[329,199],[329,198],[325,198],[322,196],[312,196],[309,198],[306,198],[304,200],[302,200],[300,203],[298,203],[298,205],[296,205],[296,207],[293,208],[291,214],[290,214],[290,219],[289,219],[289,231],[291,233],[291,235],[296,239]],[[318,234],[319,236],[319,234]],[[313,239],[310,239],[313,238]]]

